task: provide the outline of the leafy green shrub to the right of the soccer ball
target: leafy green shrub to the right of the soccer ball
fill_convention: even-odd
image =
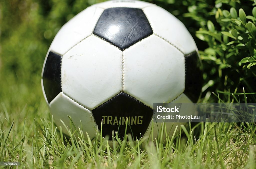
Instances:
[[[208,68],[209,72],[218,72],[218,77],[207,77],[205,74],[205,79],[211,84],[219,83],[215,85],[218,90],[243,93],[244,87],[247,92],[255,92],[256,7],[252,14],[246,16],[242,8],[238,13],[234,7],[230,11],[218,9],[215,17],[221,28],[216,30],[208,20],[207,28],[196,32],[196,36],[209,45],[200,52],[202,59],[212,65]],[[255,102],[255,97],[250,101]]]

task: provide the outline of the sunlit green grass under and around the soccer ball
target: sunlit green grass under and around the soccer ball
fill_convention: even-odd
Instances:
[[[2,77],[2,79],[4,79]],[[9,79],[9,80],[7,80]],[[255,124],[198,123],[177,128],[173,137],[127,142],[62,136],[42,97],[40,77],[28,87],[6,77],[0,106],[0,161],[25,168],[255,168]],[[3,92],[5,91],[5,92]],[[176,127],[176,126],[173,126]],[[179,130],[179,131],[178,131]]]

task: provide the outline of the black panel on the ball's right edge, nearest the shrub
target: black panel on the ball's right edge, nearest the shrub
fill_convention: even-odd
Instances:
[[[185,71],[184,94],[193,103],[196,103],[199,99],[203,83],[201,63],[196,51],[185,56]]]

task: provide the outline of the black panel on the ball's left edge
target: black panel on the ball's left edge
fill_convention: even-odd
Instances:
[[[50,103],[62,91],[61,59],[61,55],[49,52],[45,63],[43,84],[48,103]]]

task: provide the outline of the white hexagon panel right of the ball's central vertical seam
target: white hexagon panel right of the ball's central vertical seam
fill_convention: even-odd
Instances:
[[[150,35],[123,52],[124,91],[146,105],[170,102],[185,89],[183,53]]]

